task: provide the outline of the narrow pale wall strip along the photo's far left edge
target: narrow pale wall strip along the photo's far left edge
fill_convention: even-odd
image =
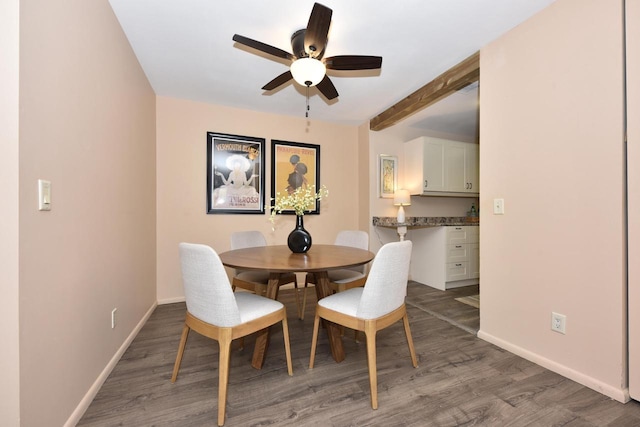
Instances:
[[[18,328],[18,0],[0,2],[0,418],[20,419]]]

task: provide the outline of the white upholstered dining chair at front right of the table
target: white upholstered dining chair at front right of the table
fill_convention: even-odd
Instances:
[[[313,368],[315,361],[320,319],[326,319],[356,331],[364,331],[367,338],[369,385],[373,409],[378,408],[377,331],[402,319],[411,362],[414,368],[418,367],[405,306],[411,247],[412,243],[409,240],[387,243],[376,254],[364,287],[348,289],[322,298],[316,306],[309,369]]]

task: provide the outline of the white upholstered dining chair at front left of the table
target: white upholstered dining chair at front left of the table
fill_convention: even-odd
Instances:
[[[180,370],[189,331],[218,341],[218,425],[224,424],[231,341],[282,322],[289,375],[293,375],[287,312],[282,303],[248,292],[235,293],[218,254],[209,246],[180,243],[187,315],[171,382]]]

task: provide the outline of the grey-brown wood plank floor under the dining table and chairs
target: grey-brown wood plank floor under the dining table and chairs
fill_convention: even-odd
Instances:
[[[344,336],[335,363],[320,333],[308,369],[315,293],[305,319],[289,311],[293,377],[282,329],[274,328],[262,370],[251,367],[253,339],[234,351],[226,426],[640,426],[640,404],[621,404],[475,337],[478,310],[455,301],[477,288],[442,292],[410,283],[407,307],[418,355],[411,366],[397,323],[378,334],[379,409],[370,405],[366,345]],[[78,425],[215,426],[217,343],[192,332],[178,380],[171,371],[185,305],[159,306]]]

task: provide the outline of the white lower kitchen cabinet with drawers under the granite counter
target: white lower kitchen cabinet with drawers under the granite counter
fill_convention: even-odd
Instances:
[[[479,231],[479,226],[412,230],[411,279],[440,290],[480,283]]]

